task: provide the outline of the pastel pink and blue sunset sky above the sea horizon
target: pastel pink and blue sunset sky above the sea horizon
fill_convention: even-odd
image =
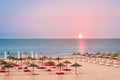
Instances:
[[[120,38],[120,0],[0,0],[0,38]]]

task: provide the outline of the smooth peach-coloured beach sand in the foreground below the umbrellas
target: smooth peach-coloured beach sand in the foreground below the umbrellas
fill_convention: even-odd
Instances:
[[[73,60],[70,59],[74,63]],[[10,69],[10,75],[0,73],[0,80],[120,80],[120,68],[93,64],[83,61],[77,61],[82,66],[78,68],[78,74],[74,73],[74,67],[69,66],[71,71],[64,75],[57,75],[59,69],[53,69],[51,72],[35,68],[35,75],[23,70]],[[31,68],[30,68],[31,69]]]

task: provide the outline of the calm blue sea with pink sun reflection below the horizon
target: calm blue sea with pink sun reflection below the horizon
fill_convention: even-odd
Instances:
[[[17,51],[65,56],[73,52],[120,52],[120,39],[0,39],[0,57],[4,52],[17,56]]]

